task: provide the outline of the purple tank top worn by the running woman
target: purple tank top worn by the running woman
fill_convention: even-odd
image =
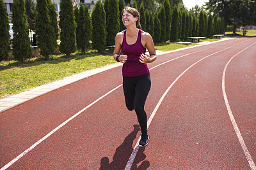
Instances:
[[[149,73],[147,64],[140,62],[141,53],[146,52],[146,48],[141,44],[141,29],[139,29],[138,39],[136,43],[128,45],[126,43],[126,29],[124,31],[124,39],[122,43],[122,51],[127,55],[127,60],[123,65],[123,76],[133,77],[141,76]]]

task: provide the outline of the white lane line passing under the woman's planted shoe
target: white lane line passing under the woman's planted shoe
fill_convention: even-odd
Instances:
[[[249,40],[250,40],[250,39],[249,39]],[[249,40],[246,40],[246,41],[249,41]],[[241,43],[244,43],[244,42],[246,42],[246,41],[243,41],[243,42],[241,42]],[[233,46],[237,46],[237,45],[239,45],[239,44],[241,44],[241,43],[238,43],[238,44],[233,45]],[[232,48],[233,46],[230,46],[230,47],[228,47],[228,48]],[[195,64],[197,64],[198,62],[200,62],[200,61],[206,59],[207,57],[210,57],[211,55],[214,55],[214,54],[216,54],[216,53],[219,53],[219,52],[222,52],[222,51],[224,51],[224,50],[227,50],[228,48],[225,48],[225,49],[220,50],[220,51],[218,51],[218,52],[215,52],[215,53],[212,53],[212,54],[210,54],[210,55],[207,55],[206,57],[204,57],[204,58],[198,60],[197,62],[195,62],[194,64],[192,64],[191,66],[189,66],[185,71],[183,71],[183,72],[172,82],[172,84],[171,84],[171,85],[168,87],[168,89],[164,92],[163,96],[161,97],[161,99],[160,99],[159,102],[157,103],[156,108],[155,108],[154,111],[151,113],[150,118],[148,118],[148,127],[149,127],[150,123],[152,122],[154,116],[156,115],[156,111],[158,110],[159,106],[161,105],[161,103],[162,103],[164,97],[166,96],[166,94],[169,92],[169,90],[173,87],[173,85],[176,83],[176,81],[178,81],[179,78],[180,78],[184,73],[186,73],[191,67],[195,66]],[[129,160],[128,160],[126,166],[125,166],[125,170],[131,169],[132,164],[133,164],[133,162],[134,162],[134,159],[135,159],[135,157],[136,157],[136,155],[137,155],[137,152],[138,152],[138,150],[139,150],[139,148],[140,148],[140,146],[138,146],[139,143],[140,143],[140,138],[138,139],[136,145],[134,146],[134,149],[133,149],[133,151],[132,151],[132,154],[131,154],[131,156],[130,156],[130,158],[129,158]]]

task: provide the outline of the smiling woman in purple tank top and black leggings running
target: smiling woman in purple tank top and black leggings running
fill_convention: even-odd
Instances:
[[[148,32],[141,30],[140,13],[131,7],[122,11],[122,21],[126,29],[115,38],[114,59],[123,63],[123,89],[128,110],[136,111],[141,128],[139,146],[148,144],[147,114],[144,105],[151,86],[147,63],[156,60],[154,42]],[[146,48],[149,55],[146,54]],[[120,55],[122,50],[123,55]]]

